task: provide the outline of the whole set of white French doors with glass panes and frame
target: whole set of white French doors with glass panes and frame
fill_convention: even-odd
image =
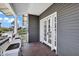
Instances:
[[[57,12],[40,20],[40,41],[57,51]]]

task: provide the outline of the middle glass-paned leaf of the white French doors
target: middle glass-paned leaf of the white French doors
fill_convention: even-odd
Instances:
[[[47,38],[47,44],[49,46],[52,46],[52,17],[48,16],[46,19],[46,25],[47,25],[47,31],[46,31],[46,38]]]

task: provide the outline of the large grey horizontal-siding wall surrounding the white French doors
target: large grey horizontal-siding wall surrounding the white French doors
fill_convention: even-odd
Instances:
[[[79,55],[79,4],[53,4],[42,19],[57,11],[58,55]]]

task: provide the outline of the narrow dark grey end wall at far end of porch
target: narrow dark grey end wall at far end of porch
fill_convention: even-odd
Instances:
[[[29,15],[29,42],[39,41],[39,17]]]

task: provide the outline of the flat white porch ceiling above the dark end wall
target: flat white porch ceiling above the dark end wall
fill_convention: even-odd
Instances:
[[[17,15],[40,15],[53,3],[11,3]]]

